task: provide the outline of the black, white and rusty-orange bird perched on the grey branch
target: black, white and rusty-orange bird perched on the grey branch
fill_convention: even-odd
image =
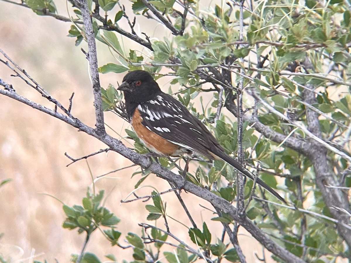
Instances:
[[[180,101],[162,92],[150,73],[145,70],[128,72],[117,89],[124,93],[127,118],[135,133],[155,154],[196,153],[210,160],[223,160],[286,203],[270,186],[227,155],[206,126]]]

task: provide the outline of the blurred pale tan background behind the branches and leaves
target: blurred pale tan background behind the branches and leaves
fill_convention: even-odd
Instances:
[[[67,16],[65,2],[57,1],[55,4],[59,14]],[[130,6],[128,1],[124,1],[123,4]],[[133,17],[132,12],[129,12],[129,15]],[[121,21],[121,27],[128,30],[125,20]],[[153,21],[142,21],[141,32],[146,32],[149,36],[163,39],[163,36],[169,34],[164,28],[156,27]],[[87,61],[80,47],[87,49],[85,43],[75,47],[75,38],[66,37],[70,26],[70,23],[51,17],[38,16],[31,9],[0,1],[0,48],[64,106],[68,107],[68,99],[74,92],[73,115],[93,126],[91,82]],[[134,42],[125,41],[124,45],[128,48],[142,49]],[[147,50],[143,52],[148,53]],[[99,66],[108,62],[115,63],[111,53],[100,43],[98,58]],[[12,83],[18,93],[53,108],[53,105],[43,100],[35,90],[10,74],[12,72],[6,66],[0,65],[0,77]],[[124,74],[100,75],[101,85],[105,88],[108,83],[117,86],[117,81],[121,82]],[[169,79],[163,79],[159,83],[164,91],[167,91],[169,84],[166,82]],[[112,113],[105,113],[105,122],[114,130],[122,131],[123,135],[124,128],[128,127],[128,123],[124,123]],[[0,254],[12,262],[32,262],[33,259],[42,261],[45,258],[48,262],[54,262],[55,258],[59,262],[69,262],[70,255],[78,254],[81,250],[85,235],[78,235],[77,230],[70,231],[61,227],[65,219],[62,205],[48,195],[70,206],[81,204],[87,187],[92,185],[89,169],[85,160],[66,167],[70,161],[64,153],[78,158],[106,146],[82,132],[77,132],[77,129],[60,120],[2,95],[0,127],[0,181],[12,179],[0,188],[0,233],[4,233],[0,240]],[[118,137],[111,129],[106,129],[109,134]],[[94,177],[131,164],[113,152],[90,157],[88,163]],[[124,245],[126,243],[123,237],[128,231],[141,234],[138,222],[153,223],[146,220],[147,203],[120,203],[140,179],[139,175],[131,178],[131,174],[137,169],[134,167],[122,170],[111,175],[115,178],[101,178],[96,183],[97,191],[105,189],[105,196],[111,193],[106,206],[121,219],[118,230],[122,232],[120,241]],[[150,175],[144,185],[152,185],[159,191],[169,188],[167,182],[154,175]],[[151,191],[151,188],[144,188],[138,191],[138,194],[150,194]],[[208,208],[212,208],[211,205],[191,194],[182,192],[181,195],[191,209],[198,227],[202,229],[203,220],[214,215],[201,208],[199,203]],[[170,216],[180,219],[188,226],[191,225],[173,193],[165,194],[162,198],[167,202],[167,213]],[[187,229],[184,226],[170,218],[168,222],[171,231],[188,241]],[[159,227],[163,227],[162,220],[157,223]],[[215,238],[221,237],[222,227],[219,222],[213,222],[209,228],[213,242]],[[246,232],[241,233],[239,242],[247,262],[259,262],[255,253],[262,257],[261,246]],[[131,249],[111,247],[98,231],[92,235],[86,251],[96,253],[102,260],[106,259],[104,255],[110,253],[114,254],[119,262],[122,259],[132,260]],[[172,250],[168,248],[168,251]],[[267,251],[265,256],[269,262],[270,256]],[[166,262],[165,259],[162,261]]]

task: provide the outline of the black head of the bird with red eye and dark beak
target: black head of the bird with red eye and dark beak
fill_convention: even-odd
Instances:
[[[151,100],[155,94],[161,92],[157,82],[154,81],[150,73],[144,70],[134,70],[127,73],[118,90],[123,91],[126,104],[141,104]]]

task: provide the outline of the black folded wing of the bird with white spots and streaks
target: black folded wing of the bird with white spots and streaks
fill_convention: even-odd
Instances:
[[[140,104],[138,110],[146,128],[174,144],[210,159],[213,144],[220,147],[205,125],[171,95],[159,93],[154,100]]]

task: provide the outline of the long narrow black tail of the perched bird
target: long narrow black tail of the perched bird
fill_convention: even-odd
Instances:
[[[220,159],[222,159],[226,163],[230,164],[235,169],[237,169],[243,175],[249,177],[251,180],[255,180],[256,176],[254,176],[249,170],[247,170],[245,167],[243,167],[240,163],[238,163],[232,157],[230,157],[229,155],[225,154],[223,151],[218,149],[218,151],[216,153],[214,153],[214,154],[217,155]],[[256,177],[256,183],[258,183],[261,187],[263,187],[264,189],[269,191],[272,195],[277,197],[280,201],[282,201],[285,204],[287,204],[283,197],[281,197],[276,191],[274,191],[271,187],[269,187],[260,178]]]

